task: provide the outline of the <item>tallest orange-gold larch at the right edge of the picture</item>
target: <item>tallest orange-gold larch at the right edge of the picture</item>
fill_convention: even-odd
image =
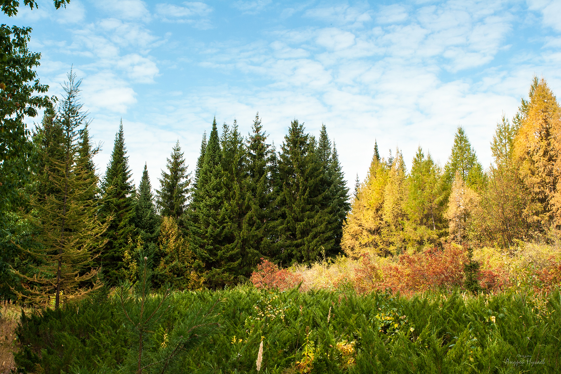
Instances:
[[[519,129],[513,153],[531,194],[525,214],[545,231],[559,225],[561,216],[561,112],[545,79],[534,77],[529,96],[528,101],[522,100],[514,121]]]

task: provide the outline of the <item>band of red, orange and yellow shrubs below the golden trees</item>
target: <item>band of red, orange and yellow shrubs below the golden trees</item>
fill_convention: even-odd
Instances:
[[[550,292],[561,281],[561,252],[551,246],[526,243],[512,251],[476,248],[472,261],[479,264],[475,278],[478,290],[498,293],[507,289]],[[312,266],[278,269],[265,260],[251,277],[257,288],[284,290],[300,281],[302,290],[352,289],[412,295],[428,290],[465,289],[468,248],[446,244],[397,256],[363,253],[358,258],[339,257]]]

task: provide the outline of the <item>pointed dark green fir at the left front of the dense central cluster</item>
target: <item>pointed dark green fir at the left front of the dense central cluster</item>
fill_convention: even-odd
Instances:
[[[222,149],[214,119],[188,220],[192,251],[204,263],[206,283],[213,289],[232,284],[240,264],[236,248],[225,240],[229,237],[225,195]]]

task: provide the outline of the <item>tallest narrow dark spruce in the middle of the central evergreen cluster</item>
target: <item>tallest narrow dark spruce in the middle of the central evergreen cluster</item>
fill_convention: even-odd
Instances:
[[[268,135],[263,131],[259,113],[255,115],[247,137],[245,179],[245,211],[241,231],[241,274],[249,276],[261,257],[273,258],[275,242],[275,200],[278,186],[275,176],[274,147],[266,144]]]

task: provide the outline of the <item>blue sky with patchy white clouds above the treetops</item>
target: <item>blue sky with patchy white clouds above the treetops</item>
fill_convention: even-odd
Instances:
[[[193,169],[214,116],[247,134],[259,112],[276,145],[294,118],[325,123],[354,184],[375,139],[408,166],[419,145],[444,165],[457,126],[489,165],[532,76],[561,92],[559,0],[38,3],[0,22],[33,27],[51,94],[71,66],[83,79],[100,173],[122,118],[135,183],[146,162],[153,187],[177,140]]]

